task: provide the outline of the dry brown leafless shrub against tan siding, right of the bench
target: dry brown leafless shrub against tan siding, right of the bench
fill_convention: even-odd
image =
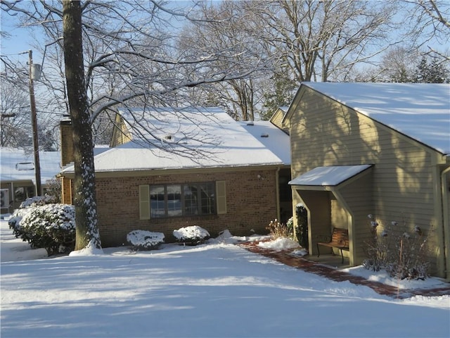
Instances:
[[[391,222],[384,230],[378,231],[378,221],[372,215],[372,239],[366,243],[366,254],[363,266],[366,269],[386,270],[390,277],[401,280],[424,280],[429,276],[429,263],[425,260],[427,252],[427,237],[423,236],[420,227],[414,227],[410,234],[406,222],[399,229],[399,224]],[[395,232],[399,234],[395,234]]]

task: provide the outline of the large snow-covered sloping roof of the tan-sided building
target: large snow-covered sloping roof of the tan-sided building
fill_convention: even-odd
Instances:
[[[398,132],[450,154],[450,84],[303,82]]]

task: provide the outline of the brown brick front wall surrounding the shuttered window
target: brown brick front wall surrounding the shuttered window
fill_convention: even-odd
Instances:
[[[164,232],[166,241],[172,231],[188,225],[205,228],[212,237],[222,230],[234,235],[266,233],[265,227],[277,217],[276,170],[240,171],[236,173],[202,173],[157,175],[148,177],[114,177],[96,179],[98,225],[102,245],[127,245],[131,230]],[[226,181],[227,213],[195,217],[139,220],[139,185],[187,182]]]

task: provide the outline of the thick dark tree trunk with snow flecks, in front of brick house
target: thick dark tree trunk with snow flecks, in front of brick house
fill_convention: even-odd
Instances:
[[[63,39],[75,157],[75,250],[86,246],[101,249],[97,225],[94,144],[84,79],[82,8],[79,1],[63,1]]]

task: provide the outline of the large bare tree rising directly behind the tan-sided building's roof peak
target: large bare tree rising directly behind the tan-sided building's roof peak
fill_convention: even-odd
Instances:
[[[373,62],[387,45],[395,13],[391,1],[260,2],[262,39],[297,83],[345,80],[356,65]]]

